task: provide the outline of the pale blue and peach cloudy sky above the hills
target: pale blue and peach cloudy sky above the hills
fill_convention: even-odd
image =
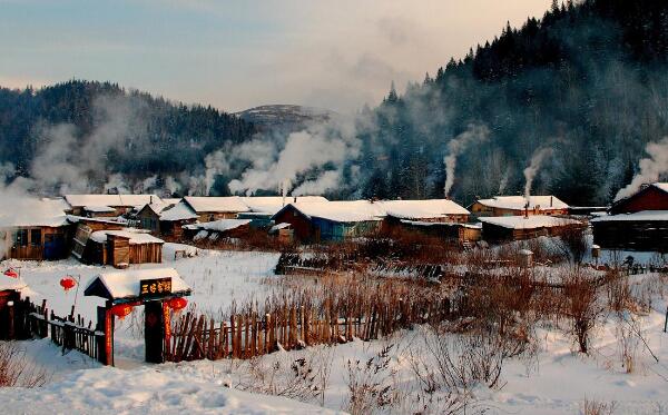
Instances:
[[[239,111],[354,112],[550,0],[0,0],[0,86],[109,80]]]

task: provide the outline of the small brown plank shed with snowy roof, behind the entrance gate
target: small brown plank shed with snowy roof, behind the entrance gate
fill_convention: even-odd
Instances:
[[[81,260],[124,267],[163,261],[163,239],[136,229],[97,230],[90,234]]]

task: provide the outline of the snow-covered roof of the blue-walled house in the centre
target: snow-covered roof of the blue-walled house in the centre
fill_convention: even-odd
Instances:
[[[325,202],[289,204],[308,218],[321,218],[338,223],[382,220],[385,209],[382,202],[369,200],[337,200]],[[283,209],[282,209],[283,210]]]

